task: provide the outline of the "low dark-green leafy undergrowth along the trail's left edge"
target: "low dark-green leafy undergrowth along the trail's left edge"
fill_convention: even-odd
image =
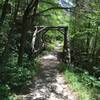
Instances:
[[[0,66],[2,67],[0,75],[0,100],[13,100],[15,94],[27,92],[33,78],[41,71],[40,63],[26,62],[22,66],[18,66],[16,62]]]

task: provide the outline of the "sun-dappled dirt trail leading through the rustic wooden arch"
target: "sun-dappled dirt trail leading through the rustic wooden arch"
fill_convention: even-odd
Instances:
[[[30,93],[24,95],[22,100],[77,100],[76,94],[58,71],[61,66],[56,55],[52,53],[43,56],[41,63],[43,70],[34,80]]]

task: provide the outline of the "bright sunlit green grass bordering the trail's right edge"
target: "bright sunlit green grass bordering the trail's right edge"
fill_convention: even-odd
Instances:
[[[100,100],[100,87],[93,86],[96,79],[85,73],[75,72],[74,69],[65,69],[66,65],[60,64],[64,78],[69,87],[79,94],[78,100]],[[64,69],[64,70],[63,70]],[[98,81],[100,83],[100,81]],[[100,84],[98,84],[100,86]]]

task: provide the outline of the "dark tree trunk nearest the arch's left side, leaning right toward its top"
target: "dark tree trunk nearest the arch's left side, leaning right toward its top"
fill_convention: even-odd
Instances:
[[[20,42],[20,48],[19,48],[19,57],[18,57],[18,64],[21,65],[23,62],[23,55],[24,50],[27,42],[27,30],[28,30],[28,17],[32,9],[34,8],[34,16],[36,14],[38,6],[38,0],[31,0],[30,4],[27,6],[24,15],[23,15],[23,24],[22,24],[22,32],[21,32],[21,42]],[[34,17],[33,16],[33,17]],[[34,22],[34,21],[33,21]]]

